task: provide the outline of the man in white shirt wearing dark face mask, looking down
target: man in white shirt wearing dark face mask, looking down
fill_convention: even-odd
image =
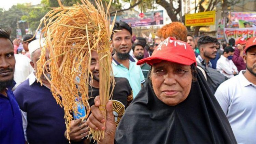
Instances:
[[[217,71],[223,75],[231,78],[234,74],[238,74],[237,67],[234,65],[232,58],[234,55],[234,49],[231,46],[224,48],[223,55],[217,61]]]

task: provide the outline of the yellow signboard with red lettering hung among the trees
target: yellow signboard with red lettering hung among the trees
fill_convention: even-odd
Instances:
[[[215,11],[185,15],[186,26],[209,26],[215,24]]]

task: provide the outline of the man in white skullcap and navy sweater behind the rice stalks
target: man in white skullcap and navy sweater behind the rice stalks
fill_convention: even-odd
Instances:
[[[23,130],[28,143],[68,143],[64,136],[66,130],[64,110],[57,104],[51,92],[49,63],[42,74],[42,83],[37,82],[37,61],[41,55],[41,46],[44,39],[34,40],[28,44],[31,66],[35,70],[29,78],[21,83],[14,91],[23,116]],[[45,60],[49,60],[49,51],[46,50]],[[42,85],[42,86],[41,86]]]

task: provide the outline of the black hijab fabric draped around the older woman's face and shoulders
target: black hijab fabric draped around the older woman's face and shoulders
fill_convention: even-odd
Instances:
[[[187,99],[176,106],[160,101],[147,80],[127,107],[115,143],[237,143],[221,106],[197,71]]]

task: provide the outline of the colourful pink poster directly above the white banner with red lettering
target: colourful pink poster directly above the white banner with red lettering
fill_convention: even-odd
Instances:
[[[229,14],[228,28],[256,27],[256,12],[231,12]]]

